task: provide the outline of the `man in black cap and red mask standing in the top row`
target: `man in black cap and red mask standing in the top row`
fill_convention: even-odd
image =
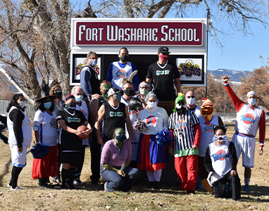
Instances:
[[[158,61],[151,64],[146,75],[149,84],[153,79],[153,92],[158,98],[158,107],[164,108],[168,116],[175,108],[175,88],[180,92],[180,72],[177,65],[168,60],[169,49],[166,46],[158,48]]]

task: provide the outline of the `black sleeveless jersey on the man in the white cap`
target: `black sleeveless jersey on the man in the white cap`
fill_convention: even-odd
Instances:
[[[125,104],[118,103],[118,106],[113,108],[109,103],[104,103],[105,113],[103,117],[103,141],[109,141],[113,139],[113,129],[116,127],[122,127],[125,129],[126,112]]]

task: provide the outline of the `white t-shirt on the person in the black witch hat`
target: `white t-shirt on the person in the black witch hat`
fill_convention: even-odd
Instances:
[[[46,146],[55,146],[57,144],[58,132],[56,113],[50,115],[46,111],[37,110],[34,118],[33,131],[38,131],[39,141]]]

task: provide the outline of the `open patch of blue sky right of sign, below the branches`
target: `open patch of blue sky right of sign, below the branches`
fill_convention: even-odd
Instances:
[[[214,23],[213,23],[214,25]],[[208,70],[219,68],[230,70],[253,71],[266,63],[269,57],[269,27],[266,29],[259,23],[251,25],[254,36],[244,36],[237,32],[229,38],[225,37],[223,51],[208,39]],[[263,56],[263,59],[259,56]]]

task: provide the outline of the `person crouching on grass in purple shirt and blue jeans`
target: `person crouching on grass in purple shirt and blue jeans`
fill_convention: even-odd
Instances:
[[[113,139],[107,141],[101,154],[101,177],[106,181],[104,191],[130,191],[140,176],[140,171],[128,167],[132,157],[132,144],[126,139],[125,130],[116,127]]]

